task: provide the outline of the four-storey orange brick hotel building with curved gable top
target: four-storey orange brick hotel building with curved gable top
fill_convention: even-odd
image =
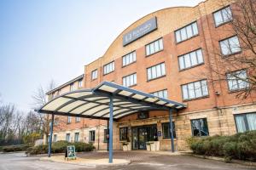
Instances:
[[[195,7],[164,8],[148,14],[121,32],[102,57],[85,65],[84,75],[51,90],[49,99],[108,81],[184,103],[187,107],[173,116],[176,150],[186,150],[185,141],[191,136],[256,129],[256,94],[236,99],[248,84],[236,78],[211,81],[216,75],[210,67],[218,67],[214,62],[218,53],[245,53],[237,47],[241,41],[228,24],[233,8],[233,3],[207,0]],[[236,48],[230,48],[232,44]],[[246,77],[247,71],[240,71],[239,76]],[[113,148],[119,150],[128,141],[133,150],[143,150],[147,141],[158,139],[160,150],[169,150],[168,111],[140,116],[134,113],[114,122]],[[106,121],[59,116],[53,140],[93,142],[96,149],[106,150],[107,132]]]

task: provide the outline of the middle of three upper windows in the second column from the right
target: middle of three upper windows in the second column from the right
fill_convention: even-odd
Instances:
[[[178,57],[179,69],[182,71],[184,69],[193,67],[195,65],[200,65],[204,63],[201,49],[197,49],[189,54],[183,54]]]

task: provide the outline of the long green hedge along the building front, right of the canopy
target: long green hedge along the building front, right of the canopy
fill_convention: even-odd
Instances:
[[[232,136],[193,137],[187,142],[195,154],[256,161],[256,131]]]

